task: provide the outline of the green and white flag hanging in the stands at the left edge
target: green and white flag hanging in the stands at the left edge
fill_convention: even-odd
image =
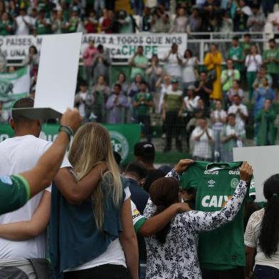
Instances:
[[[13,73],[0,74],[0,101],[4,108],[12,107],[16,100],[29,95],[31,78],[29,68],[21,68]]]

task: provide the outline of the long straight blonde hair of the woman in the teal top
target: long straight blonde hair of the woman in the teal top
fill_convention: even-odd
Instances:
[[[97,164],[106,162],[108,172],[102,177],[102,181],[108,187],[109,193],[112,193],[114,205],[118,206],[122,202],[120,172],[113,157],[110,135],[105,127],[97,123],[87,123],[80,127],[70,147],[69,160],[78,181],[83,179]],[[95,223],[100,231],[104,221],[103,185],[99,182],[92,194]]]

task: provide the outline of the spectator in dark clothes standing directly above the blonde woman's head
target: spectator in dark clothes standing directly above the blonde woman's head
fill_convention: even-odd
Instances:
[[[104,120],[104,113],[102,111],[105,103],[107,102],[108,95],[110,94],[110,88],[105,83],[103,75],[99,75],[97,83],[92,88],[93,93],[93,113],[95,120],[102,123]]]

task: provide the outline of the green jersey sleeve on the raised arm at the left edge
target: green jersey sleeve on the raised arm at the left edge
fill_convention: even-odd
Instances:
[[[0,177],[0,215],[19,209],[30,199],[28,181],[20,175]]]

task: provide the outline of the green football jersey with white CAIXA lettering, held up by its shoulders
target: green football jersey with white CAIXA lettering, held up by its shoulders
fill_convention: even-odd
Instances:
[[[180,176],[183,189],[196,189],[196,210],[218,211],[226,205],[239,183],[242,162],[194,162]],[[256,196],[255,181],[251,180],[246,201]],[[236,218],[214,231],[199,234],[199,263],[201,268],[225,270],[245,266],[244,205]]]

